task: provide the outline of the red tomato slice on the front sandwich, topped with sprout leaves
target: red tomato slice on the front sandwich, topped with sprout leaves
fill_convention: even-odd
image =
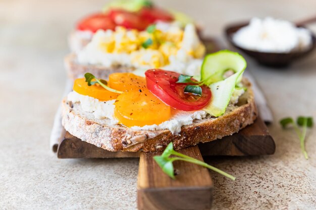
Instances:
[[[187,83],[176,83],[180,74],[162,69],[145,72],[147,88],[169,106],[183,111],[199,110],[210,101],[212,93],[207,86],[201,86],[202,96],[184,93]]]

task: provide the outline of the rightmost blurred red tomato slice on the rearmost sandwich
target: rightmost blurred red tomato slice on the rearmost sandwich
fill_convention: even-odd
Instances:
[[[140,16],[148,20],[150,23],[154,23],[157,20],[165,22],[171,22],[174,20],[173,16],[168,11],[160,8],[143,7],[140,10]]]

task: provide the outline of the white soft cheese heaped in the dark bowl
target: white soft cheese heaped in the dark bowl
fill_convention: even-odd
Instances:
[[[312,43],[309,30],[271,17],[251,19],[232,38],[239,47],[259,52],[305,51]]]

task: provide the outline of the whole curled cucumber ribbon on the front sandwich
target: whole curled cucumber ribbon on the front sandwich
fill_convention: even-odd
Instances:
[[[247,63],[238,53],[222,50],[209,54],[204,58],[201,68],[201,81],[209,85],[212,98],[203,109],[207,113],[218,117],[225,113],[236,84],[242,79]],[[232,69],[235,74],[223,80],[227,69]]]

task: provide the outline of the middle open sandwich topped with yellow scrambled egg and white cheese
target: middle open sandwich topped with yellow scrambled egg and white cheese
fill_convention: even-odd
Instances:
[[[105,79],[112,73],[149,68],[197,75],[204,53],[193,24],[182,28],[157,23],[145,31],[117,26],[115,30],[98,30],[87,46],[66,56],[65,65],[73,79],[85,73]]]

